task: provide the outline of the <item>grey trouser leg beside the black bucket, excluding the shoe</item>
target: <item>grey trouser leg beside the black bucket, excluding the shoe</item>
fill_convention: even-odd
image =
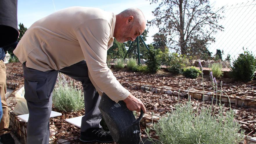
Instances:
[[[90,128],[102,128],[99,124],[102,119],[102,114],[98,107],[101,97],[88,77],[86,61],[81,61],[59,71],[82,83],[85,115],[82,117],[81,131],[84,132]]]

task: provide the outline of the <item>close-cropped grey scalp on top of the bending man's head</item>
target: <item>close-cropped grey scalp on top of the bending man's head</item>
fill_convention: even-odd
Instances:
[[[139,24],[141,26],[143,24],[146,24],[145,16],[142,13],[142,11],[138,8],[127,8],[118,15],[120,15],[121,17],[133,16],[135,24]]]

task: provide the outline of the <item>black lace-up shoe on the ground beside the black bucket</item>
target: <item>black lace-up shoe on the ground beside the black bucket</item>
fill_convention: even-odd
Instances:
[[[102,143],[110,143],[113,142],[113,138],[110,134],[110,131],[104,131],[102,128],[91,128],[85,132],[81,131],[80,141],[83,142],[92,142],[98,141]]]

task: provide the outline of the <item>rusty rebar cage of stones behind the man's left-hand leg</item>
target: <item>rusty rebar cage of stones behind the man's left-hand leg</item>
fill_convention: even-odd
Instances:
[[[17,104],[15,94],[22,87],[18,83],[7,82],[7,87],[15,89],[13,93],[6,99],[9,116],[10,116],[10,130],[19,139],[21,143],[26,143],[26,122],[22,121],[13,113]],[[50,118],[50,138],[49,143],[66,143],[70,142],[77,144],[79,142],[79,131],[72,127],[67,127],[65,121],[58,122],[54,118]]]

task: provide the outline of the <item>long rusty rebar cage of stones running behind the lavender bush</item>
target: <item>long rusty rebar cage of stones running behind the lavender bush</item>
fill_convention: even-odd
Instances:
[[[167,93],[167,94],[175,94],[178,90],[182,93],[183,96],[188,96],[188,87],[179,86],[179,85],[159,85],[156,83],[148,83],[143,81],[123,81],[118,80],[123,86],[131,87],[134,89],[142,89],[147,91],[153,91],[155,93]],[[169,92],[168,92],[169,90]],[[225,90],[223,90],[225,92]],[[228,97],[223,93],[217,93],[218,99],[221,97],[221,101],[225,103],[229,103],[228,97],[230,99],[230,103],[234,103],[236,105],[241,106],[242,104],[245,106],[256,105],[256,95],[254,93],[251,94],[243,94],[243,93],[232,93],[226,92]],[[177,93],[176,93],[177,94]],[[205,100],[210,99],[210,97],[214,94],[213,90],[205,89],[203,91],[202,88],[190,88],[189,95],[192,98],[202,99],[202,95],[205,96]],[[215,92],[216,96],[216,92]]]

